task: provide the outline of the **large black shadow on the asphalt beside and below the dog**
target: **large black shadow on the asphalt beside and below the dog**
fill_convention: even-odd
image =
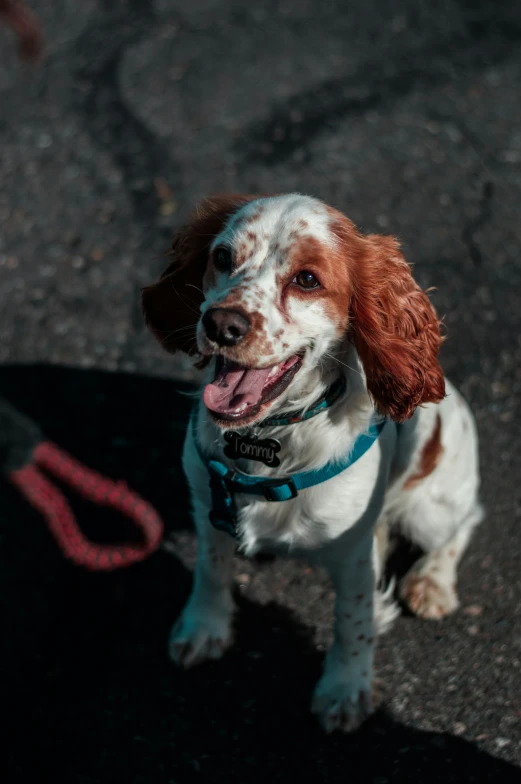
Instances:
[[[125,478],[194,548],[179,462],[190,401],[176,386],[0,368],[3,396],[75,456]],[[93,522],[76,511],[92,535],[125,535],[110,513]],[[519,781],[513,766],[385,709],[353,736],[325,737],[308,711],[321,654],[274,603],[241,599],[233,650],[177,670],[166,640],[191,576],[170,552],[112,574],[74,568],[7,482],[0,537],[6,782]]]

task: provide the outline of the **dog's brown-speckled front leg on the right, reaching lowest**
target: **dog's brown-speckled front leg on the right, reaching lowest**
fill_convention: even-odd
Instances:
[[[311,710],[326,732],[356,729],[373,711],[372,670],[375,639],[375,578],[372,532],[323,565],[336,591],[334,641],[315,688]]]

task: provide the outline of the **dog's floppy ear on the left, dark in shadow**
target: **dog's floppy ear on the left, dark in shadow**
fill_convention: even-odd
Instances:
[[[205,199],[176,234],[170,264],[160,280],[143,289],[143,315],[164,349],[197,354],[195,329],[204,300],[208,249],[228,218],[255,196],[234,194]]]

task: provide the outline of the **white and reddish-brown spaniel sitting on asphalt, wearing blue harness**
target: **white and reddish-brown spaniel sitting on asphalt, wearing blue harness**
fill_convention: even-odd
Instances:
[[[396,239],[300,194],[203,201],[143,290],[146,323],[198,360],[183,466],[198,556],[171,658],[232,642],[232,559],[269,550],[327,570],[334,641],[311,710],[351,731],[375,707],[388,533],[422,548],[399,585],[421,618],[458,606],[456,569],[483,510],[471,411],[438,362],[440,322]],[[392,586],[391,586],[392,588]]]

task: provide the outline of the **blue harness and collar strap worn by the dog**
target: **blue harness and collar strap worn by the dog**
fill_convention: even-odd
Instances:
[[[303,417],[296,418],[296,416],[290,416],[287,419],[277,419],[276,424],[292,424],[309,419],[311,416],[329,408],[338,396],[337,394],[334,398],[328,398],[325,404],[324,401],[321,401],[319,405],[313,408],[312,411],[307,412]],[[300,474],[268,478],[244,474],[228,468],[220,460],[207,458],[197,437],[195,409],[192,411],[191,420],[192,435],[197,452],[210,474],[210,490],[212,493],[210,522],[219,531],[224,531],[234,537],[237,536],[235,493],[258,496],[270,502],[289,501],[291,498],[296,498],[299,490],[305,490],[308,487],[327,482],[328,479],[341,474],[356,463],[357,460],[360,460],[367,450],[372,447],[386,424],[386,420],[382,420],[371,425],[367,433],[358,436],[349,452],[341,460],[326,463],[322,468],[315,468],[312,471],[304,471]],[[267,420],[265,424],[268,423],[275,424],[275,421]]]

